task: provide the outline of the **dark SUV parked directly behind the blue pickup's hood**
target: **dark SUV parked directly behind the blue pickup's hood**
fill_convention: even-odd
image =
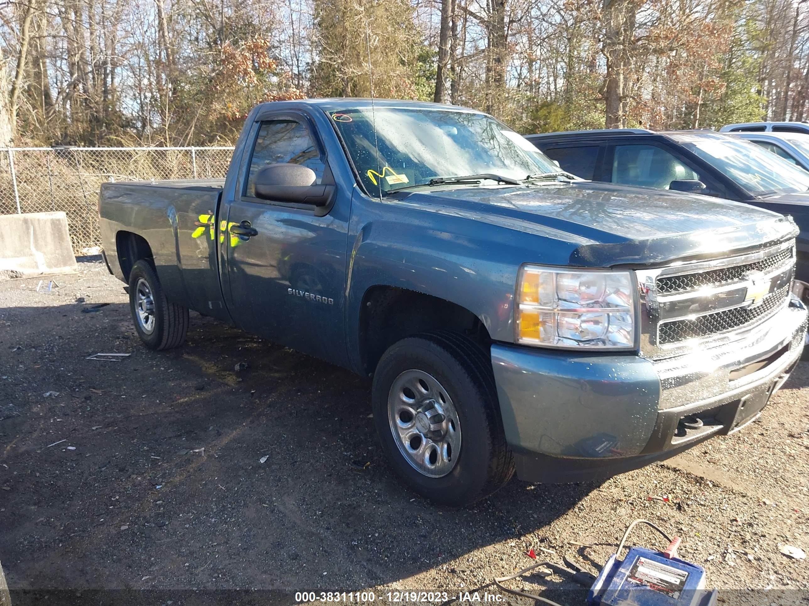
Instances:
[[[791,215],[801,229],[796,277],[809,281],[809,173],[758,145],[712,131],[643,128],[526,138],[582,179],[704,194]]]

